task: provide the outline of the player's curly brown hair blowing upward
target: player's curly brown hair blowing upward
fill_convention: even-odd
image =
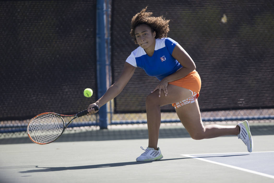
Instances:
[[[132,36],[135,43],[136,37],[135,37],[135,28],[138,27],[141,24],[146,24],[150,26],[152,32],[156,32],[155,38],[165,38],[167,37],[167,33],[169,32],[169,21],[166,20],[163,16],[152,16],[152,12],[146,12],[147,7],[145,9],[142,9],[141,12],[134,15],[131,19],[131,30],[130,35]]]

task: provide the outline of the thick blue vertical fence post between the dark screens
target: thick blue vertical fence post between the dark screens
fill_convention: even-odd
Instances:
[[[96,5],[96,60],[97,60],[97,88],[98,97],[102,97],[107,91],[106,82],[106,43],[105,43],[105,2],[97,0]],[[100,129],[107,129],[107,105],[99,110]]]

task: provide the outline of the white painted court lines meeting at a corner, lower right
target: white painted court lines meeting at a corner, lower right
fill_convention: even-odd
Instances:
[[[274,151],[262,151],[262,152],[252,152],[252,153],[271,153],[271,152],[274,152]],[[244,153],[246,153],[246,152],[244,152]],[[207,153],[207,154],[209,154],[209,153]],[[211,154],[239,154],[239,153],[211,153]],[[254,173],[254,174],[257,174],[257,175],[261,175],[261,176],[265,176],[265,177],[274,179],[273,175],[269,175],[269,174],[266,174],[266,173],[261,173],[261,172],[258,172],[258,171],[248,170],[248,169],[245,169],[245,168],[235,167],[235,166],[232,166],[232,165],[219,163],[219,162],[215,162],[215,161],[210,161],[210,160],[203,159],[203,158],[200,158],[200,157],[191,156],[191,155],[204,155],[204,154],[181,154],[181,155],[186,156],[186,157],[195,158],[195,159],[198,159],[198,160],[201,160],[201,161],[206,161],[206,162],[209,162],[209,163],[214,163],[214,164],[217,164],[217,165],[222,165],[222,166],[225,166],[225,167],[230,167],[230,168],[234,168],[234,169],[237,169],[237,170],[242,170],[242,171],[246,171],[246,172],[249,172],[249,173]]]

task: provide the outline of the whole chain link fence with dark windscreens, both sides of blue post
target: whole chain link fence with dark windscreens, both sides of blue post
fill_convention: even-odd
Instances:
[[[131,18],[149,5],[153,15],[170,19],[168,36],[195,61],[204,123],[236,124],[249,117],[251,123],[273,123],[272,1],[111,4],[112,83],[137,47],[129,35]],[[97,100],[95,0],[1,1],[0,17],[1,136],[25,134],[28,121],[39,113],[76,114]],[[137,68],[109,109],[109,128],[145,125],[145,97],[158,82]],[[95,91],[91,98],[83,96],[85,88]],[[161,111],[164,125],[180,124],[171,105]],[[67,133],[97,130],[98,119],[77,119]]]

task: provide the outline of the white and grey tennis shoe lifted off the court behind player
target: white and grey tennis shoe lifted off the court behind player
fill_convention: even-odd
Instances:
[[[253,140],[247,120],[239,123],[238,126],[240,127],[238,139],[241,139],[244,142],[244,144],[246,144],[248,152],[251,153],[253,150]]]

